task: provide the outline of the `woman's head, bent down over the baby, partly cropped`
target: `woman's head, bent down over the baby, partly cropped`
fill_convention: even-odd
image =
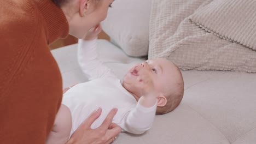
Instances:
[[[69,34],[84,38],[90,28],[106,19],[114,0],[53,0],[69,23]]]

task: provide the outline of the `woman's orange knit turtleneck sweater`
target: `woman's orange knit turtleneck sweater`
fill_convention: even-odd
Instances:
[[[0,143],[45,143],[62,99],[48,48],[68,34],[51,0],[0,1]]]

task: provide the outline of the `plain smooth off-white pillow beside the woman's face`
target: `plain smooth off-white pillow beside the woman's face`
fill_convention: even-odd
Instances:
[[[102,24],[110,41],[129,56],[148,55],[151,0],[118,0]]]

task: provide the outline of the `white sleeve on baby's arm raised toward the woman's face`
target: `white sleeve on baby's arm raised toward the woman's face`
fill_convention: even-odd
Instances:
[[[97,58],[97,40],[78,41],[78,63],[89,80],[116,77],[112,71]]]

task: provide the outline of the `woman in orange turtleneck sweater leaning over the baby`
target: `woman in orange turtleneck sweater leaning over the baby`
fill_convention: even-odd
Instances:
[[[62,78],[48,45],[68,33],[83,38],[106,18],[113,0],[0,1],[0,142],[45,143],[61,105]],[[116,109],[98,129],[92,113],[68,143],[110,143],[121,129],[111,123]]]

